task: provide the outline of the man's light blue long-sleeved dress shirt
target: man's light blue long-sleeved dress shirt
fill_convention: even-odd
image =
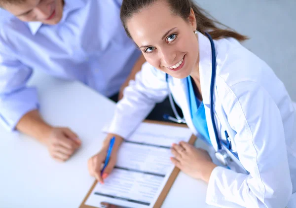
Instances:
[[[25,23],[0,9],[0,123],[10,130],[38,107],[26,87],[33,69],[79,80],[106,96],[119,91],[140,50],[120,22],[122,0],[65,0],[57,25]]]

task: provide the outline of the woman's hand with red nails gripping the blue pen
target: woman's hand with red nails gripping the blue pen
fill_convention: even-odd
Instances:
[[[111,152],[111,156],[110,156],[108,165],[107,165],[106,169],[104,170],[104,173],[102,174],[101,170],[104,166],[104,163],[105,163],[105,160],[107,157],[107,151],[109,149],[110,139],[113,136],[115,136],[115,143],[112,148],[112,152]],[[102,184],[104,183],[104,179],[108,177],[108,175],[111,173],[111,171],[113,170],[113,168],[116,164],[117,151],[118,151],[119,145],[121,144],[122,140],[123,139],[121,137],[119,137],[118,135],[109,134],[103,143],[102,149],[88,160],[89,174],[91,176],[94,176]]]

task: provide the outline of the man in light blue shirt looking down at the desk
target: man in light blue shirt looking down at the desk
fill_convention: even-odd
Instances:
[[[47,124],[32,70],[79,80],[108,97],[122,90],[145,59],[119,19],[121,0],[0,0],[0,123],[47,145],[65,161],[81,141]],[[117,98],[115,98],[117,99]]]

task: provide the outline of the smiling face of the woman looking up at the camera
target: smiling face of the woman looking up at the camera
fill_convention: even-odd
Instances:
[[[193,12],[185,21],[170,12],[165,0],[155,2],[127,21],[127,29],[148,63],[175,78],[187,77],[198,65],[195,28]]]

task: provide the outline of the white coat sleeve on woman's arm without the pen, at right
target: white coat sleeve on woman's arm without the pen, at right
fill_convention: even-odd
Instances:
[[[221,208],[285,208],[292,181],[280,110],[268,92],[251,81],[229,88],[222,102],[237,133],[238,156],[250,174],[216,167],[206,202]]]

